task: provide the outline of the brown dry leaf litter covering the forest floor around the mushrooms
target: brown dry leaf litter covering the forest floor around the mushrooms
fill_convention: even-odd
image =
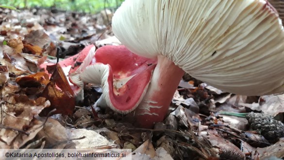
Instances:
[[[284,95],[235,95],[185,74],[154,129],[135,127],[133,113],[95,107],[97,86],[85,85],[76,102],[65,69],[38,66],[56,63],[57,51],[67,58],[88,44],[120,45],[102,13],[0,8],[0,148],[131,148],[143,160],[284,158],[283,138],[267,141],[245,118],[254,111],[283,123]]]

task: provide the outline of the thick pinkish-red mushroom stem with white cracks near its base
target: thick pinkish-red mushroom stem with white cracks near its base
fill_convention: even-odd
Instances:
[[[163,122],[183,75],[184,71],[171,60],[158,56],[147,93],[135,109],[135,119],[141,127],[150,128],[155,122]]]

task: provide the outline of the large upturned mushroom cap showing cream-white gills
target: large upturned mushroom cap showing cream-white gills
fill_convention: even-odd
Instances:
[[[130,51],[163,55],[224,91],[284,91],[284,31],[266,0],[125,0],[112,27]]]

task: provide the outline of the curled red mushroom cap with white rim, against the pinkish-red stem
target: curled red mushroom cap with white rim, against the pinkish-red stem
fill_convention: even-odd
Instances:
[[[122,114],[140,104],[156,66],[156,59],[141,57],[124,46],[100,47],[87,62],[76,71],[70,70],[70,82],[77,86],[101,85],[106,105]]]

